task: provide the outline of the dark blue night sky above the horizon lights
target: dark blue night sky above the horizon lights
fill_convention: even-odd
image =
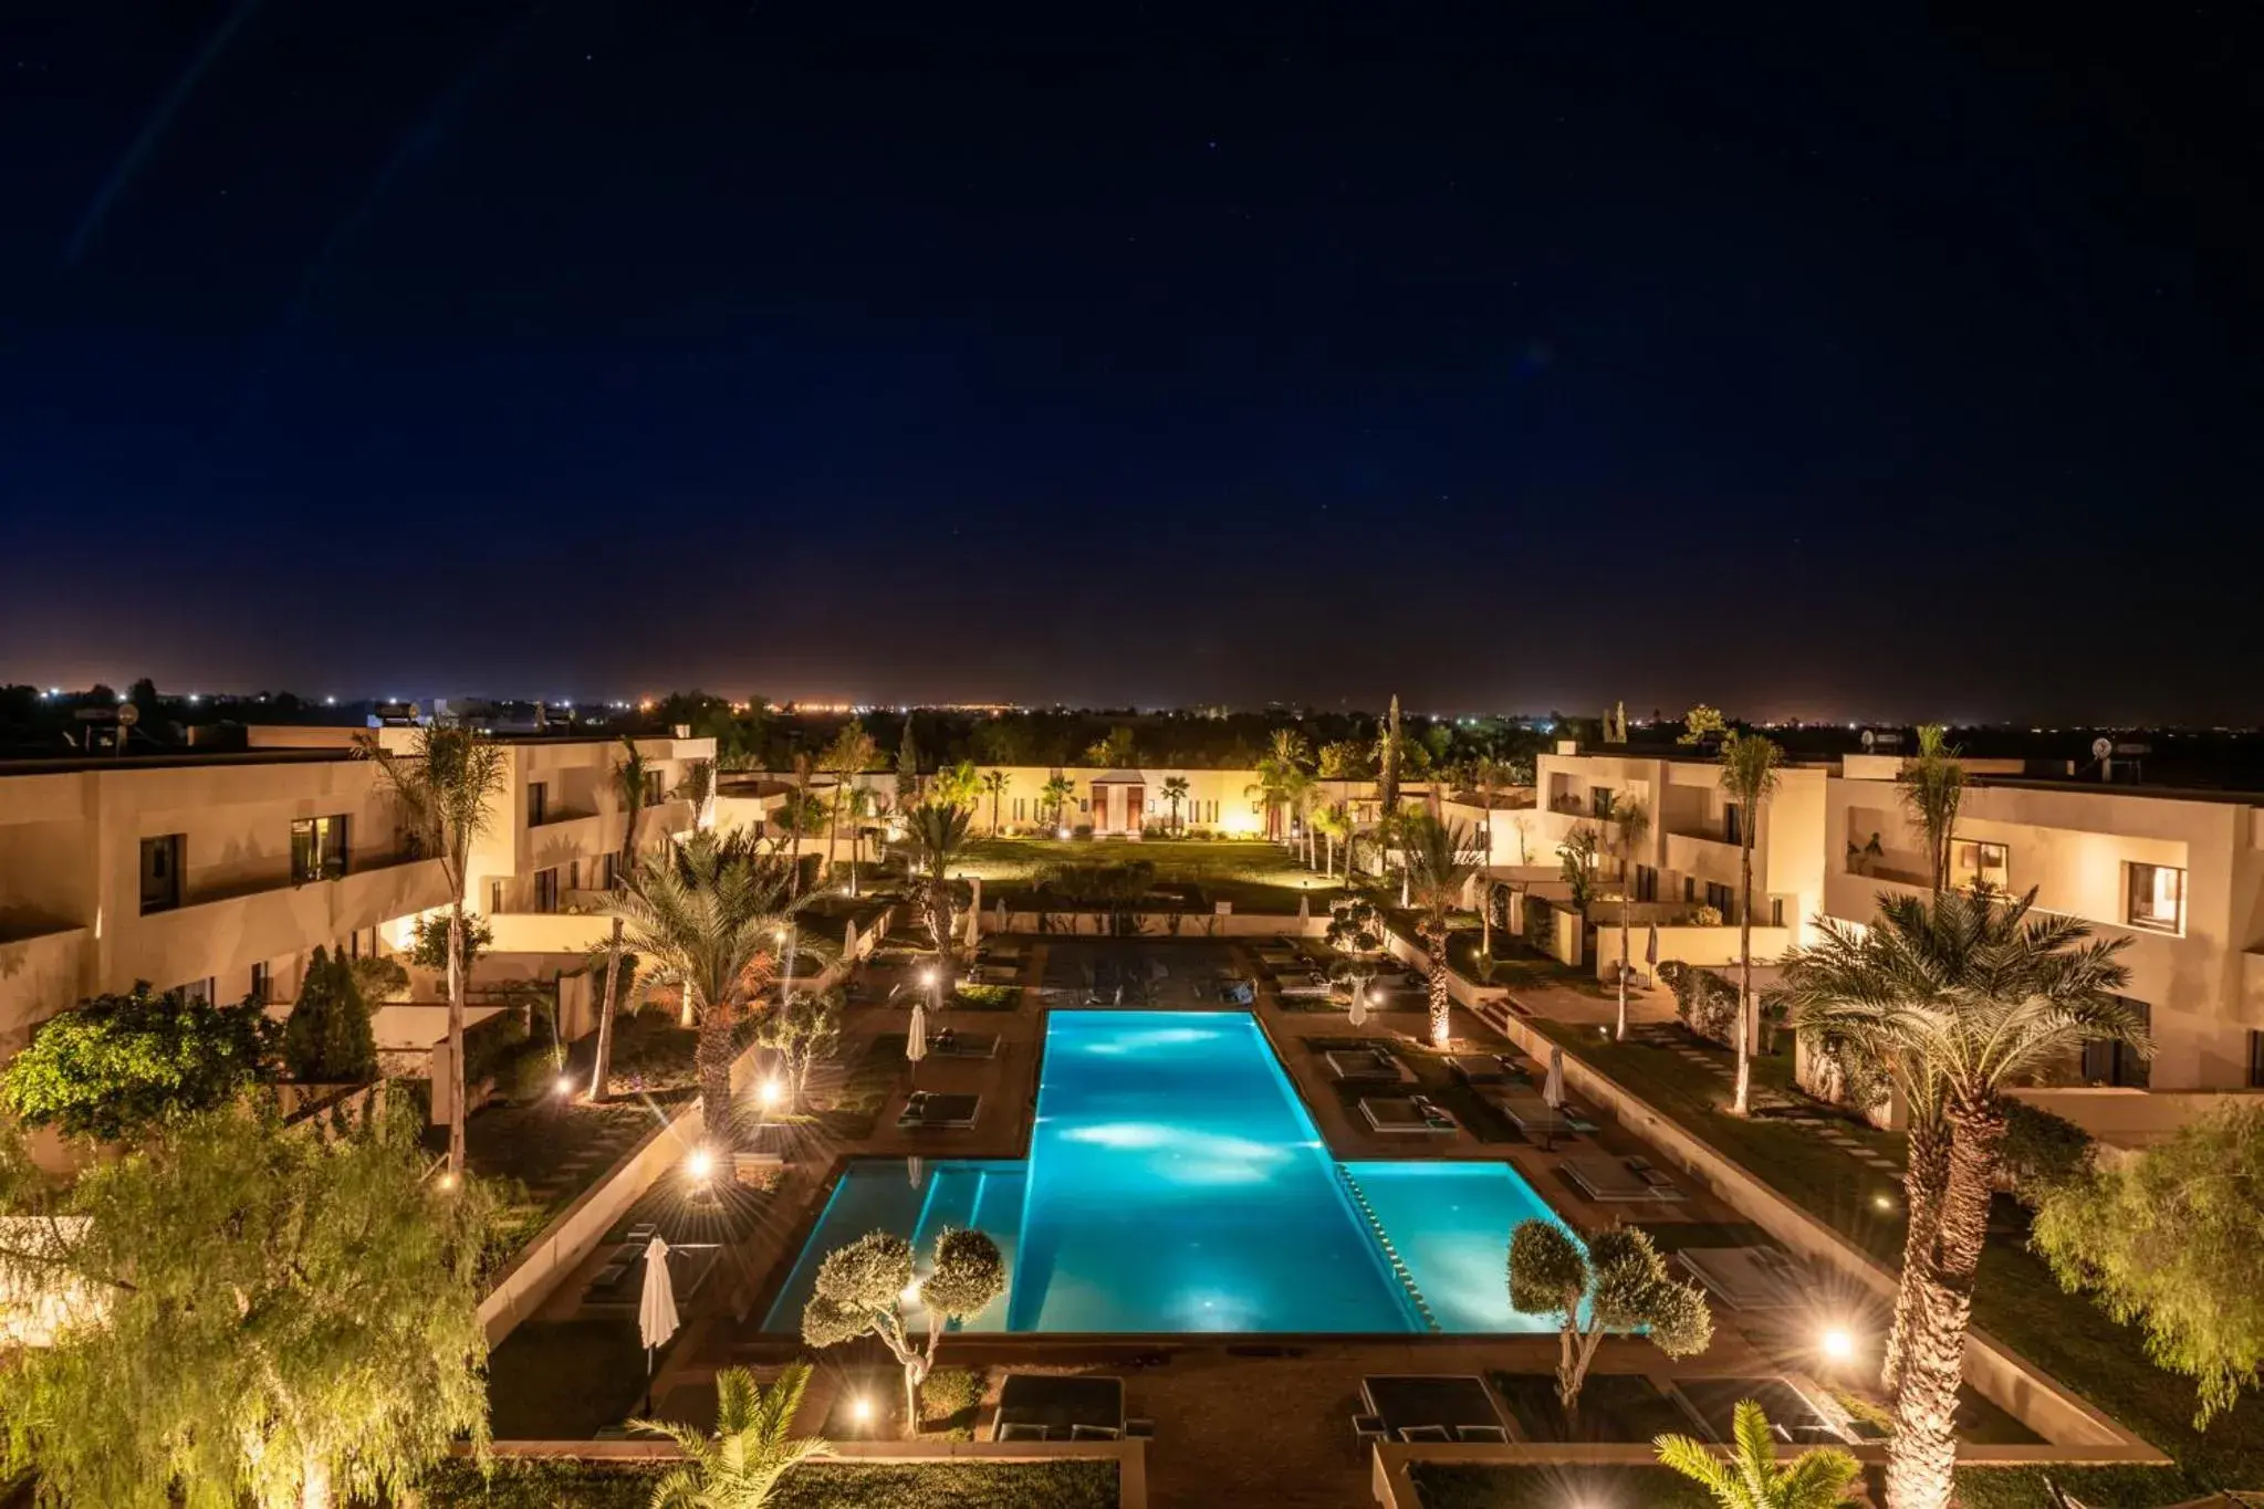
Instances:
[[[2246,7],[7,9],[0,679],[2264,717]]]

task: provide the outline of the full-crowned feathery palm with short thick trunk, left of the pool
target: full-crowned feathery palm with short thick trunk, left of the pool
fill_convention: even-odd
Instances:
[[[811,898],[792,898],[777,855],[752,828],[702,828],[643,857],[609,909],[627,923],[629,946],[652,977],[684,991],[700,1027],[693,1066],[706,1142],[731,1152],[731,1059],[747,1004],[779,964],[779,934]]]

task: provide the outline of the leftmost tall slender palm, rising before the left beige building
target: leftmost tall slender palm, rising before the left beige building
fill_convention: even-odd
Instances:
[[[491,799],[512,781],[509,756],[473,728],[426,724],[408,756],[360,735],[355,756],[378,774],[401,805],[403,828],[421,853],[439,860],[448,882],[448,1172],[464,1176],[464,887],[471,846],[494,826]]]

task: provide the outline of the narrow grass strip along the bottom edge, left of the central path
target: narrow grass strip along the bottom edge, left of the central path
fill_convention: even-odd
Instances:
[[[426,1509],[645,1509],[661,1466],[498,1457],[426,1475]],[[1114,1461],[817,1461],[788,1473],[770,1509],[1114,1509]]]

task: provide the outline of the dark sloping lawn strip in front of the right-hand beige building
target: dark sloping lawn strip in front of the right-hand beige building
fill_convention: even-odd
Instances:
[[[1736,1118],[1727,1084],[1700,1075],[1664,1047],[1605,1043],[1564,1023],[1537,1027],[1596,1070],[1689,1127],[1795,1206],[1895,1269],[1902,1262],[1902,1188],[1780,1118]],[[1727,1059],[1727,1052],[1723,1052]],[[1755,1061],[1755,1086],[1789,1090],[1791,1061]],[[1902,1156],[1897,1133],[1850,1122],[1847,1131]],[[1879,1208],[1888,1197],[1890,1210]],[[2207,1430],[2194,1430],[2194,1385],[2158,1369],[2142,1335],[2081,1294],[2065,1292],[2026,1249],[2017,1222],[1995,1222],[1974,1285],[1974,1323],[2024,1360],[2160,1446],[2210,1489],[2264,1486],[2264,1403],[2244,1398]],[[2115,1500],[2108,1500],[2115,1502]]]

